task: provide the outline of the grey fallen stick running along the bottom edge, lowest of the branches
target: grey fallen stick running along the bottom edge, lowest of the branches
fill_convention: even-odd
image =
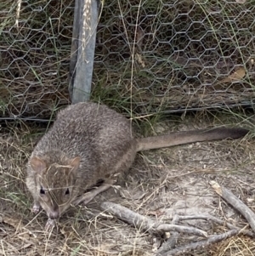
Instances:
[[[231,236],[235,236],[238,234],[238,230],[229,230],[228,232],[220,235],[214,235],[210,236],[208,239],[201,240],[199,242],[192,242],[190,244],[176,247],[171,251],[168,251],[166,253],[157,253],[156,256],[176,256],[176,255],[181,255],[183,253],[187,253],[191,250],[194,249],[199,249],[201,247],[207,247],[213,243],[221,242],[224,239],[227,239]]]

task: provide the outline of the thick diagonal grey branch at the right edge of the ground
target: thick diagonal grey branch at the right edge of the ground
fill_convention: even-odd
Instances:
[[[252,230],[255,232],[255,213],[253,213],[252,210],[248,208],[246,204],[241,202],[241,200],[238,199],[231,191],[218,185],[217,182],[211,181],[210,185],[212,185],[212,188],[219,196],[222,196],[226,202],[229,202],[233,208],[238,210],[246,218],[247,222],[252,227]]]

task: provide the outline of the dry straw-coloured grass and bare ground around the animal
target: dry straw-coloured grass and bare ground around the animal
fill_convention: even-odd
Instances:
[[[203,128],[238,123],[234,115],[169,117],[175,122],[155,126],[155,132]],[[140,154],[128,174],[122,174],[114,189],[97,196],[88,208],[71,208],[58,228],[44,233],[45,213],[30,213],[31,196],[24,184],[26,158],[42,136],[44,128],[24,123],[2,128],[0,213],[0,255],[153,255],[153,236],[102,213],[100,202],[116,202],[144,215],[171,222],[173,214],[210,213],[236,226],[246,220],[208,185],[216,180],[254,207],[254,143],[251,138],[177,146]],[[1,218],[0,216],[0,218]],[[206,221],[184,221],[209,234],[222,233],[223,226]],[[248,226],[246,226],[249,229]],[[181,236],[178,244],[194,241]],[[235,236],[195,255],[255,255],[254,241]],[[187,253],[186,255],[191,255]],[[194,255],[194,254],[192,254]]]

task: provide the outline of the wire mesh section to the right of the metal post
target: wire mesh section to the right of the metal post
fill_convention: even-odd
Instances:
[[[106,1],[94,91],[142,114],[252,105],[254,18],[252,1]]]

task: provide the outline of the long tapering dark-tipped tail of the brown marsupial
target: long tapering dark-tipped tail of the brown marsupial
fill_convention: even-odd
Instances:
[[[137,139],[137,151],[148,151],[198,141],[238,139],[249,132],[246,128],[207,128]]]

